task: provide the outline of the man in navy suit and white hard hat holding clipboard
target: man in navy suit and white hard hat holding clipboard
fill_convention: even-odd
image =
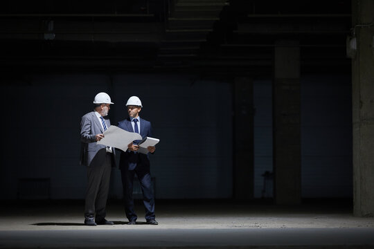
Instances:
[[[141,100],[132,96],[127,100],[127,113],[129,118],[118,122],[118,127],[125,131],[140,133],[142,138],[152,136],[152,127],[150,122],[139,117]],[[132,198],[134,175],[139,178],[141,190],[143,192],[143,203],[145,207],[145,221],[150,225],[158,225],[154,215],[154,192],[150,176],[150,160],[148,154],[138,153],[139,146],[136,140],[128,145],[127,151],[121,151],[120,169],[123,185],[123,198],[125,199],[126,217],[129,219],[127,224],[136,224],[138,216],[134,210],[134,199]],[[147,148],[150,153],[156,149],[153,146]]]

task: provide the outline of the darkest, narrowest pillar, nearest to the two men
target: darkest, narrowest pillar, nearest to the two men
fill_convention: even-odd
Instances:
[[[253,82],[236,78],[233,87],[233,197],[253,198]]]

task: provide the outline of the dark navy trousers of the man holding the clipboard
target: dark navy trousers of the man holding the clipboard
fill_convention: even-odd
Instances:
[[[123,185],[123,199],[125,200],[125,212],[129,221],[136,221],[138,216],[134,210],[134,199],[132,192],[134,190],[134,175],[138,176],[143,192],[143,203],[145,208],[145,220],[152,220],[154,215],[154,192],[149,167],[135,167],[134,169],[121,169],[121,178]]]

